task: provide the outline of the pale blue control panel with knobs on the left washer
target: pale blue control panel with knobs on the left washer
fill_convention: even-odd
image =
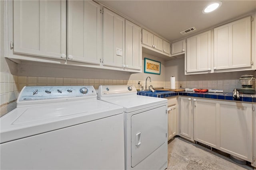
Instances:
[[[97,96],[93,86],[25,86],[18,101]]]

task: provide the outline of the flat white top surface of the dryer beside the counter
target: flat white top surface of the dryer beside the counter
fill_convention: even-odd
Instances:
[[[124,112],[126,113],[152,106],[157,106],[160,104],[167,104],[167,99],[140,95],[116,96],[103,98],[101,100],[124,107]]]

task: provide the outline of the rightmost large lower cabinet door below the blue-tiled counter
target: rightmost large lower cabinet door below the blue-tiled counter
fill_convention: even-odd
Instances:
[[[252,104],[219,103],[219,150],[252,162]]]

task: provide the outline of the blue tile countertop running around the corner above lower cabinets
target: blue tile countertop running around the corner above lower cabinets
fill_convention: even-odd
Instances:
[[[255,94],[239,94],[240,99],[234,99],[233,93],[197,93],[197,92],[144,92],[138,91],[137,95],[141,96],[150,96],[156,98],[168,98],[172,96],[191,96],[197,98],[209,98],[209,99],[219,99],[219,100],[233,100],[233,101],[240,101],[240,102],[256,102],[256,95]]]

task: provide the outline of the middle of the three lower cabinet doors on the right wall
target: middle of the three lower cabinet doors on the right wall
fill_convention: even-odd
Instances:
[[[194,140],[217,148],[217,114],[214,100],[195,99]]]

